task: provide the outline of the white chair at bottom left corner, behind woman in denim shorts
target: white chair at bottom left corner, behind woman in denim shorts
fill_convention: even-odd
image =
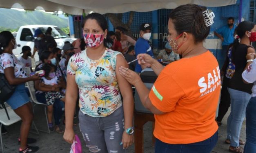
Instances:
[[[21,120],[21,118],[13,111],[13,109],[11,109],[11,106],[9,106],[7,103],[4,103],[3,107],[6,107],[6,109],[0,109],[0,139],[2,153],[4,153],[1,130],[2,125],[9,126]]]

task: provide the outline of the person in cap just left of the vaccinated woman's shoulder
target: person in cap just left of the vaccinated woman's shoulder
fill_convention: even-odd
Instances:
[[[65,43],[63,46],[63,51],[64,51],[64,57],[60,60],[60,70],[62,71],[62,73],[65,75],[65,77],[67,76],[67,63],[69,62],[69,58],[74,54],[74,48],[72,44]]]

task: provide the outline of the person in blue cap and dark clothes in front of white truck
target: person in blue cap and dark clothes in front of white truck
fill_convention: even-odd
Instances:
[[[44,50],[48,50],[48,44],[53,44],[53,47],[57,47],[57,43],[54,38],[51,35],[44,35],[40,28],[36,29],[34,37],[36,37],[36,39],[33,55],[31,56],[32,58],[34,58],[36,51],[38,51],[40,58],[41,53]]]

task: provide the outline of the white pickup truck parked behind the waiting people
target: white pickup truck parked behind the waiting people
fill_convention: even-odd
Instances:
[[[13,54],[17,57],[21,56],[21,49],[23,46],[29,46],[31,48],[31,52],[33,53],[34,48],[34,38],[33,35],[37,28],[40,28],[43,33],[46,32],[47,28],[51,27],[52,32],[51,35],[55,39],[57,43],[57,47],[62,49],[64,42],[69,41],[72,43],[74,38],[69,37],[65,32],[63,32],[59,27],[52,26],[52,25],[27,25],[27,26],[20,26],[18,33],[16,35],[16,43],[17,48],[13,50]],[[35,60],[39,61],[38,53],[35,54]]]

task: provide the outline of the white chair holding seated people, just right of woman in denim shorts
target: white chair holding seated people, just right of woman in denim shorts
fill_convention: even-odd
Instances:
[[[28,67],[25,68],[25,71],[27,72],[28,75],[31,73],[31,70]],[[42,105],[42,106],[45,107],[45,117],[46,117],[46,122],[47,122],[47,131],[41,130],[41,129],[38,129],[38,131],[50,133],[50,129],[48,127],[48,118],[47,118],[47,105],[43,104],[43,103],[39,103],[36,100],[36,94],[35,94],[36,90],[35,90],[35,86],[34,86],[34,82],[33,81],[26,82],[26,85],[29,88],[29,94],[30,94],[31,101],[34,103],[34,105],[33,105],[33,113],[34,113],[34,107],[36,107],[36,105]]]

